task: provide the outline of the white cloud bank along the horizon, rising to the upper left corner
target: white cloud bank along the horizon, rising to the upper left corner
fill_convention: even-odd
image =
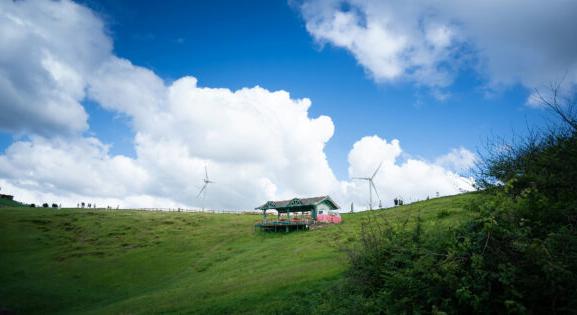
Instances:
[[[339,181],[331,170],[324,147],[335,126],[330,117],[310,117],[309,99],[259,86],[203,87],[191,76],[166,82],[114,55],[101,20],[78,4],[0,5],[0,71],[8,74],[0,89],[14,91],[0,93],[0,107],[20,118],[0,120],[0,128],[27,136],[0,155],[0,184],[22,200],[200,207],[207,166],[216,181],[208,187],[210,208],[251,209],[322,194],[366,203],[363,183]],[[28,76],[19,74],[23,68]],[[86,100],[130,119],[134,158],[111,155],[99,139],[84,136]],[[401,152],[398,140],[363,138],[350,152],[349,173],[364,174],[384,160],[376,184],[390,200],[459,192],[451,184],[455,173],[433,162],[399,161]]]

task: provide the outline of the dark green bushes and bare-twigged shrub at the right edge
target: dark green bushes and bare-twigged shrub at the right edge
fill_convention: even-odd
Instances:
[[[577,125],[567,123],[575,122],[570,115],[561,118],[560,127],[490,151],[479,176],[485,191],[467,206],[476,215],[466,224],[431,229],[419,217],[401,226],[366,220],[359,244],[349,248],[341,294],[320,309],[576,313]]]

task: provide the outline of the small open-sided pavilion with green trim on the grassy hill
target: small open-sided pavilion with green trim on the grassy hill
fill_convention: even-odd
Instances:
[[[255,228],[262,231],[308,230],[317,223],[340,223],[342,220],[335,211],[339,206],[329,196],[267,201],[255,209],[262,210],[262,222],[255,225]],[[269,218],[268,210],[275,210],[276,216],[271,215],[272,218]]]

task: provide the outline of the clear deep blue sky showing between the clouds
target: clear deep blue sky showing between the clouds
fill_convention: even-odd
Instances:
[[[437,100],[414,83],[377,83],[346,50],[315,43],[300,12],[286,1],[86,1],[107,23],[117,55],[165,80],[194,75],[208,87],[262,86],[313,102],[312,116],[335,125],[327,155],[346,178],[347,154],[364,135],[398,138],[406,151],[434,159],[464,146],[482,150],[493,134],[523,134],[542,110],[526,106],[518,85],[486,95],[473,69],[459,72],[451,97]],[[134,154],[127,121],[89,106],[91,132]]]

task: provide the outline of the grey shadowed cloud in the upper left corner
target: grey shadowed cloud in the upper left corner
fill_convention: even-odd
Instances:
[[[69,1],[0,2],[0,129],[86,130],[84,88],[112,50],[102,30],[96,15]]]

